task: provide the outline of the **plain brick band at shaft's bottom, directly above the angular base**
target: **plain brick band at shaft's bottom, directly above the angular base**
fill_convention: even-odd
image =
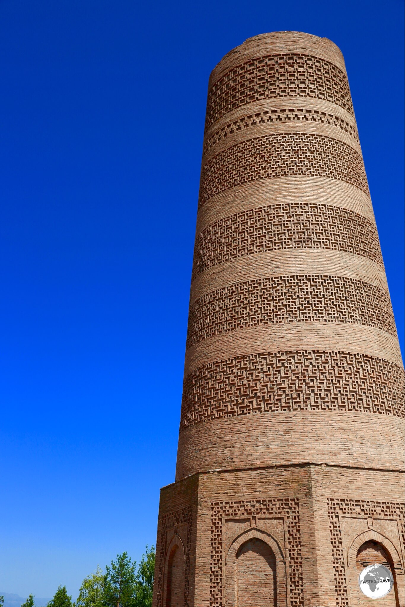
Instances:
[[[290,405],[289,405],[290,406]],[[350,410],[218,416],[180,432],[176,478],[195,470],[316,463],[403,467],[403,419]]]

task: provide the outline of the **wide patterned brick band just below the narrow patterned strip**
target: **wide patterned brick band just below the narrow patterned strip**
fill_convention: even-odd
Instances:
[[[241,141],[201,169],[199,208],[220,192],[275,177],[327,177],[369,195],[363,158],[343,141],[309,133],[278,133]]]

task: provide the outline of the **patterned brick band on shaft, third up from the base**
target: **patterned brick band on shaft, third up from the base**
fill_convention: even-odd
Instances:
[[[192,279],[218,263],[281,249],[329,249],[383,267],[375,223],[349,209],[309,202],[277,203],[234,213],[196,237]]]

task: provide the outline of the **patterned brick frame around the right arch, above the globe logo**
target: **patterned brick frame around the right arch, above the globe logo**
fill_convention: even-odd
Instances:
[[[340,515],[350,517],[390,518],[400,522],[402,545],[405,544],[404,515],[405,504],[400,502],[344,500],[328,498],[330,543],[332,544],[332,564],[335,577],[336,607],[349,607],[347,595],[346,569],[340,529]]]

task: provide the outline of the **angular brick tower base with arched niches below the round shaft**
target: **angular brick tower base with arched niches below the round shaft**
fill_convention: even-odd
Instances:
[[[161,490],[153,607],[375,607],[367,563],[404,600],[403,475],[300,464],[216,470]]]

